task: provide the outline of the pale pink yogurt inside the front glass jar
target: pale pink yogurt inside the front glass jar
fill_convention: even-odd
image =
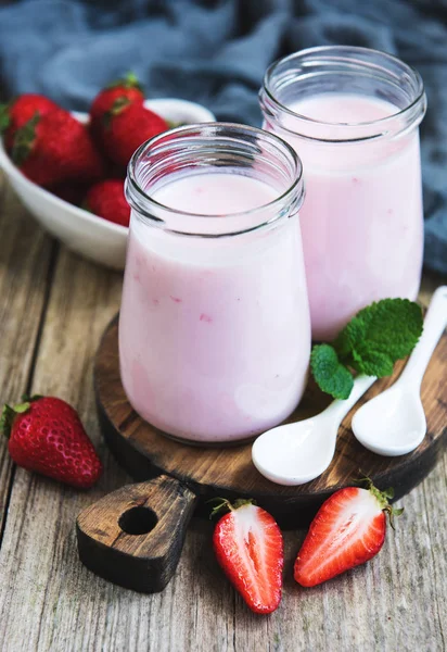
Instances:
[[[266,183],[218,171],[152,193],[165,206],[215,215],[216,225],[277,197]],[[310,353],[301,252],[297,217],[270,230],[194,238],[148,227],[132,212],[119,352],[126,393],[144,419],[215,443],[250,438],[294,410]]]

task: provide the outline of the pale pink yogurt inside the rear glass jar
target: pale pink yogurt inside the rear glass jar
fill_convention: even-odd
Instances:
[[[289,105],[325,123],[368,123],[397,112],[367,96],[321,93]],[[284,125],[293,131],[293,117]],[[273,128],[274,127],[270,127]],[[359,125],[358,134],[362,130]],[[320,142],[277,133],[298,152],[306,201],[301,221],[312,337],[331,340],[361,308],[386,297],[416,299],[423,252],[419,131],[376,142]],[[318,138],[318,122],[308,126]]]

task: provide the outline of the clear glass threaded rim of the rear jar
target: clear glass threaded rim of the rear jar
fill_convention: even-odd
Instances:
[[[345,54],[345,57],[342,57],[342,53]],[[374,57],[379,57],[381,58],[381,60],[383,62],[389,62],[393,65],[398,65],[403,68],[403,71],[405,71],[408,75],[411,76],[412,80],[416,84],[416,88],[414,88],[414,98],[403,109],[397,109],[397,111],[395,113],[392,113],[391,115],[386,115],[384,117],[378,118],[378,120],[372,120],[372,121],[366,121],[366,122],[349,122],[349,123],[340,123],[340,122],[335,122],[335,123],[330,123],[327,121],[322,121],[322,120],[315,120],[308,115],[305,114],[301,114],[301,113],[296,113],[295,111],[292,111],[286,104],[283,104],[274,95],[273,90],[271,89],[271,83],[272,83],[272,77],[276,73],[276,71],[278,70],[278,67],[280,65],[283,64],[288,64],[292,61],[296,61],[296,60],[302,60],[305,59],[307,57],[319,57],[319,55],[324,55],[324,54],[334,54],[334,55],[339,55],[339,61],[340,63],[347,63],[349,61],[349,55],[354,57],[354,55],[374,55]],[[335,60],[334,60],[335,61]],[[368,65],[367,61],[361,61],[358,60],[357,61],[358,64],[363,64],[366,67]],[[376,66],[375,66],[376,67]],[[311,74],[311,73],[310,73]],[[368,128],[368,127],[384,127],[384,129],[386,130],[386,126],[389,125],[391,122],[396,121],[396,118],[399,117],[405,117],[408,116],[409,114],[412,113],[412,111],[418,108],[418,105],[421,102],[424,102],[425,100],[425,91],[424,91],[424,85],[423,85],[423,80],[422,77],[420,75],[420,73],[413,68],[412,66],[410,66],[409,64],[407,64],[406,62],[404,62],[401,59],[399,59],[398,57],[394,57],[393,54],[388,54],[387,52],[383,52],[382,50],[375,50],[373,48],[363,48],[363,47],[357,47],[357,46],[319,46],[319,47],[315,47],[315,48],[306,48],[303,50],[298,50],[297,52],[293,52],[292,54],[289,54],[288,57],[283,57],[282,59],[278,59],[277,61],[274,61],[273,63],[271,63],[269,65],[269,67],[267,68],[265,75],[264,75],[264,84],[263,84],[263,89],[260,91],[265,92],[266,96],[268,97],[268,99],[272,102],[272,104],[278,108],[280,111],[291,115],[292,117],[299,120],[303,122],[303,124],[307,124],[307,125],[320,125],[320,126],[324,126],[324,127],[341,127],[343,129],[346,129],[347,131],[352,128],[353,130],[355,128]],[[420,117],[420,121],[422,120],[423,115],[425,113],[425,106],[423,106],[423,111],[422,111],[422,115]],[[420,122],[419,121],[419,122]],[[286,126],[281,125],[283,129],[291,131],[291,133],[295,133],[292,129],[288,129]],[[370,138],[375,138],[378,136],[382,136],[383,135],[383,130],[381,130],[380,134],[375,134],[374,136],[367,136],[365,138],[355,138],[355,140],[362,140],[362,139],[370,139]],[[324,138],[311,138],[312,140],[330,140],[330,139],[324,139]],[[350,140],[349,138],[341,138],[340,140],[337,139],[336,141],[344,141],[344,140]]]

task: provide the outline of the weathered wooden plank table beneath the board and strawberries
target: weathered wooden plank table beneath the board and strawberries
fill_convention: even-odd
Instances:
[[[442,280],[425,276],[421,299]],[[0,444],[0,650],[26,652],[440,651],[447,640],[447,456],[408,494],[369,564],[315,589],[292,579],[303,531],[285,532],[285,585],[269,617],[247,611],[214,559],[212,524],[193,519],[177,573],[143,595],[79,562],[78,512],[130,481],[106,450],[92,388],[99,338],[122,276],[69,253],[3,185],[0,214],[1,401],[56,394],[80,413],[104,461],[89,492],[11,464]]]

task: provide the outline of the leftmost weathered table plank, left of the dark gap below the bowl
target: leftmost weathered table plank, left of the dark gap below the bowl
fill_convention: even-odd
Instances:
[[[53,242],[13,196],[0,174],[0,403],[26,389],[44,306]],[[12,464],[0,441],[0,531]],[[1,541],[0,541],[1,544]]]

